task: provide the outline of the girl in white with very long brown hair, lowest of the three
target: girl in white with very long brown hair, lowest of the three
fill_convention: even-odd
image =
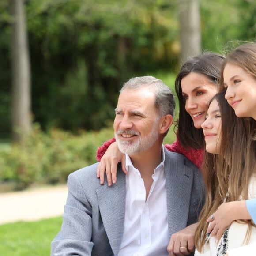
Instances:
[[[206,203],[195,235],[196,256],[223,256],[228,249],[256,242],[256,226],[248,211],[226,212],[240,221],[232,222],[221,236],[212,236],[208,230],[209,216],[216,222],[221,205],[256,197],[256,121],[238,118],[224,97],[225,91],[215,95],[202,124],[206,142],[202,166]]]

